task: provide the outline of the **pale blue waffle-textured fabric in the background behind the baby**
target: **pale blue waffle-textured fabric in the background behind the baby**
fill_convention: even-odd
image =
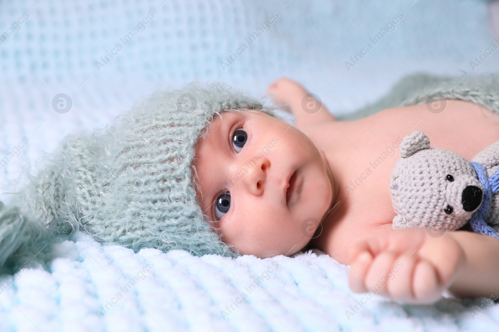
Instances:
[[[452,88],[464,76],[459,68],[468,72],[460,88],[472,75],[470,61],[494,42],[483,26],[489,26],[485,0],[288,2],[1,1],[0,33],[23,12],[29,18],[0,45],[0,156],[22,137],[29,144],[0,169],[0,191],[19,190],[13,179],[23,165],[37,170],[43,151],[54,151],[68,133],[105,125],[143,96],[169,86],[225,82],[259,94],[284,75],[339,115],[376,101],[408,78],[404,71],[422,87],[416,72],[456,76]],[[345,62],[399,11],[404,19],[396,30],[371,44],[374,49],[348,71]],[[146,30],[123,45],[120,38],[149,12],[154,18]],[[270,31],[224,71],[221,61],[248,45],[245,38],[273,12],[279,18]],[[95,63],[118,42],[124,49],[99,71]],[[473,75],[496,71],[496,53]],[[68,113],[52,109],[59,93],[72,99]]]

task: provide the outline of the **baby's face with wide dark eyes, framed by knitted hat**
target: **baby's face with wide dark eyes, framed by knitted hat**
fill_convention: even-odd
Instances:
[[[198,201],[242,254],[293,254],[332,200],[327,161],[301,131],[264,112],[226,111],[201,137]],[[320,228],[320,227],[319,227]]]

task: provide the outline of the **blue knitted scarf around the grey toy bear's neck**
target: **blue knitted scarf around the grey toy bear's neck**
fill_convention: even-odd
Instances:
[[[479,234],[494,236],[499,239],[499,233],[484,221],[487,212],[489,212],[489,203],[491,202],[492,194],[499,191],[499,168],[489,178],[482,164],[472,161],[471,165],[477,173],[478,180],[484,186],[484,197],[480,208],[471,216],[470,225]]]

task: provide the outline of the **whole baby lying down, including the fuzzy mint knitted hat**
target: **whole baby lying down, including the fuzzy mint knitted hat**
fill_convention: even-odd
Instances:
[[[477,89],[460,91],[497,111],[496,86]],[[407,303],[498,289],[496,238],[393,230],[389,189],[412,130],[471,159],[499,140],[495,112],[451,99],[438,113],[417,105],[337,121],[295,82],[279,80],[268,93],[295,126],[245,93],[189,84],[66,137],[15,194],[16,206],[0,202],[0,265],[23,250],[36,259],[37,241],[80,229],[135,251],[271,257],[318,248],[351,266],[352,290]]]

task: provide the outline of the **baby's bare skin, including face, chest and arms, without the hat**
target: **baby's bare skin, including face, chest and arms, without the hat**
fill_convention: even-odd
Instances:
[[[445,290],[459,297],[497,290],[497,239],[393,230],[389,189],[399,143],[412,130],[471,159],[499,140],[497,114],[448,100],[438,114],[423,104],[338,121],[322,105],[305,111],[304,98],[317,101],[296,82],[281,79],[268,93],[292,112],[295,127],[260,111],[224,112],[197,144],[198,201],[224,242],[262,258],[318,248],[351,266],[352,290],[383,280],[378,294],[407,303],[435,302]]]

